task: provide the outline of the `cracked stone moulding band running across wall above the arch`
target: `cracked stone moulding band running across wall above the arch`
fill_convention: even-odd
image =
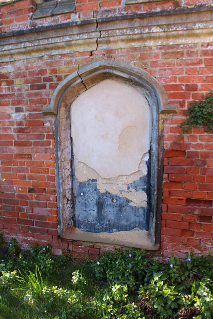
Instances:
[[[43,54],[93,52],[109,47],[118,49],[158,46],[162,43],[200,43],[201,38],[203,42],[212,42],[212,27],[213,6],[53,23],[1,33],[0,62]]]

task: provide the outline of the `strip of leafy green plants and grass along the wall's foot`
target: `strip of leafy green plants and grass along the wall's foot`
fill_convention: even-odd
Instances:
[[[0,319],[213,318],[210,257],[162,264],[127,249],[75,261],[50,249],[20,252],[12,239],[0,251]]]

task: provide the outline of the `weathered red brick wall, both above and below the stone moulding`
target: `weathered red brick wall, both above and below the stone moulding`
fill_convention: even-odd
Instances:
[[[76,12],[32,19],[35,3],[16,1],[0,7],[1,32],[57,24],[73,19],[109,16],[195,4],[212,0],[172,0],[124,5],[124,1],[78,0]],[[67,246],[75,257],[96,258],[104,246],[62,241],[57,235],[54,117],[42,108],[57,85],[80,64],[118,59],[146,69],[164,85],[169,103],[179,113],[164,122],[164,181],[161,249],[185,258],[211,253],[213,247],[213,134],[194,128],[180,142],[183,111],[213,88],[213,41],[206,43],[134,46],[130,48],[43,54],[0,63],[0,232],[15,237],[23,248],[49,241],[55,253]]]

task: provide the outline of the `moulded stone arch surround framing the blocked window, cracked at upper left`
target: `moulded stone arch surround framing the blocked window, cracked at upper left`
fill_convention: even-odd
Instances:
[[[133,238],[108,236],[77,231],[73,226],[72,189],[72,139],[70,106],[85,90],[105,79],[125,83],[146,97],[152,113],[150,220],[148,231]],[[110,243],[156,250],[159,248],[159,214],[161,211],[162,129],[159,129],[159,114],[174,110],[168,106],[163,86],[148,72],[114,60],[101,60],[79,67],[56,88],[51,104],[43,109],[44,114],[55,115],[56,187],[58,205],[58,234],[65,239],[96,243]],[[156,227],[157,226],[157,227]],[[120,233],[119,233],[120,234]],[[120,234],[121,235],[121,234]]]

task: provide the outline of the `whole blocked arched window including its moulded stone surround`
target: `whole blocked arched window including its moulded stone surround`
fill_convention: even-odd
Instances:
[[[155,78],[115,61],[82,66],[58,85],[43,112],[57,115],[60,236],[158,249],[158,122],[166,106]]]

